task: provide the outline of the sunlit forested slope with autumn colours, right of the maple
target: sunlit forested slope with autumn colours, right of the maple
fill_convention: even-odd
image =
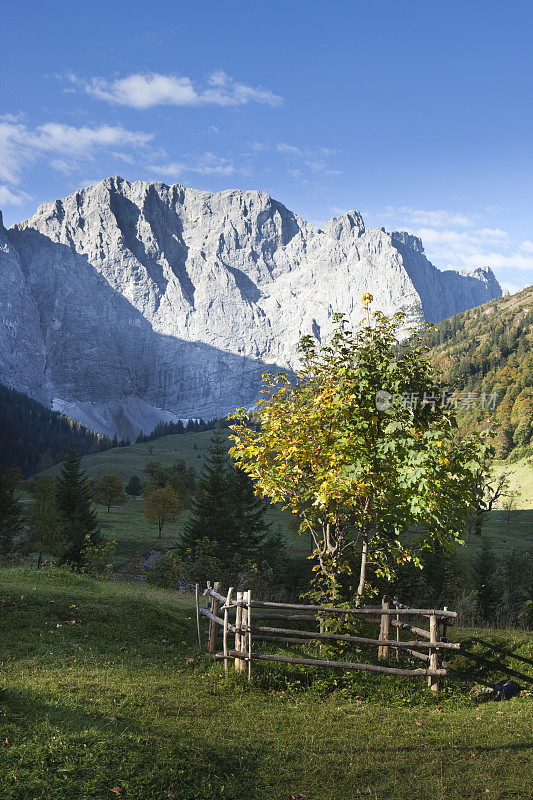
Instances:
[[[533,453],[533,286],[441,320],[429,344],[464,430],[493,419],[500,457]]]

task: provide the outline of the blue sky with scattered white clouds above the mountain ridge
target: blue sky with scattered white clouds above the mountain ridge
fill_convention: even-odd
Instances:
[[[529,0],[5,4],[6,224],[119,174],[269,192],[533,282]]]

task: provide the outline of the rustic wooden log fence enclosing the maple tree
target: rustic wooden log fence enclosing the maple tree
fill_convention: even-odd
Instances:
[[[433,691],[439,689],[439,678],[447,674],[449,664],[442,660],[442,655],[459,649],[459,644],[449,642],[446,638],[447,627],[454,624],[457,618],[455,611],[427,608],[410,608],[397,600],[384,597],[381,606],[361,606],[360,608],[335,608],[330,606],[303,605],[297,603],[275,603],[253,600],[251,591],[235,592],[233,587],[226,595],[221,594],[220,584],[210,583],[203,592],[209,598],[209,607],[200,606],[200,587],[196,584],[196,621],[198,642],[202,647],[201,618],[209,620],[208,652],[218,659],[224,660],[226,672],[229,662],[234,661],[235,669],[248,672],[251,677],[252,661],[280,661],[289,664],[304,664],[318,667],[336,667],[339,669],[380,672],[386,675],[402,675],[406,677],[427,676],[428,686]],[[303,612],[303,613],[302,613]],[[363,617],[366,623],[379,626],[378,638],[352,636],[327,632],[325,620],[329,617]],[[429,630],[413,624],[413,617],[422,617],[429,622]],[[258,620],[267,620],[262,624]],[[272,622],[270,622],[272,621]],[[313,623],[318,631],[300,630],[294,627],[276,627],[274,621],[285,624]],[[396,638],[390,638],[391,628],[395,629]],[[420,638],[401,639],[401,634]],[[222,636],[222,651],[217,652],[217,638]],[[231,642],[230,640],[233,640]],[[387,661],[391,651],[396,658],[406,654],[424,666],[413,669],[384,666],[380,664],[359,664],[352,661],[328,661],[318,658],[297,658],[270,653],[253,652],[253,641],[278,642],[282,644],[305,644],[310,641],[336,641],[374,647],[378,650],[378,660]],[[233,643],[233,646],[231,646]]]

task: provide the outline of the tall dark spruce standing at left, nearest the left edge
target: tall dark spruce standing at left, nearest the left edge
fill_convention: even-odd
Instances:
[[[70,448],[57,479],[56,502],[66,543],[62,561],[79,570],[83,566],[86,537],[90,538],[91,544],[98,544],[101,534],[98,518],[91,507],[91,494],[81,469],[81,458],[74,446]]]

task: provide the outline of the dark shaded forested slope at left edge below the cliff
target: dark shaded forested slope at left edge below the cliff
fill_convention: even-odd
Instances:
[[[0,472],[18,468],[28,477],[61,460],[72,444],[87,455],[117,442],[0,384]]]

